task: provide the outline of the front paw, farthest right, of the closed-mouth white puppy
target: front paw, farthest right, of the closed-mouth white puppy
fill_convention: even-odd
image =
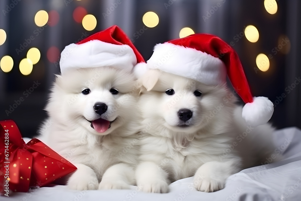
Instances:
[[[210,177],[202,178],[200,176],[194,176],[194,187],[203,192],[214,192],[224,188],[225,181],[217,180]]]

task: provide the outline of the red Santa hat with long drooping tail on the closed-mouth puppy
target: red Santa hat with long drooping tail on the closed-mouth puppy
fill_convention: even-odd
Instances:
[[[217,36],[194,34],[157,44],[147,65],[135,68],[135,74],[139,77],[149,68],[191,78],[206,85],[224,83],[228,75],[237,94],[246,103],[242,117],[247,124],[265,124],[272,117],[273,103],[266,97],[252,96],[237,53]]]

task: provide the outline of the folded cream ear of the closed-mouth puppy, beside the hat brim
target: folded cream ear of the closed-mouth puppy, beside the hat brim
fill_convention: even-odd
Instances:
[[[158,70],[148,70],[141,78],[139,78],[138,82],[141,84],[141,92],[150,91],[154,88],[156,83],[159,80],[160,71]]]

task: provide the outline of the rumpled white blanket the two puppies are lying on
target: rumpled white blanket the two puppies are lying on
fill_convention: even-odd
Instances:
[[[248,168],[230,176],[224,189],[213,192],[199,192],[193,188],[193,178],[185,178],[170,184],[169,193],[143,193],[139,187],[131,190],[69,190],[66,186],[42,187],[28,193],[16,192],[0,200],[37,201],[183,201],[183,200],[273,200],[301,201],[301,130],[295,127],[275,131],[275,154],[283,152],[284,159],[277,163],[268,158],[266,165]]]

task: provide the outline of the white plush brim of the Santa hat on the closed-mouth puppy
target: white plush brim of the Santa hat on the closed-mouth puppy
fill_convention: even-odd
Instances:
[[[225,64],[219,58],[169,42],[154,47],[154,53],[147,61],[147,66],[207,85],[223,83],[227,75]]]

